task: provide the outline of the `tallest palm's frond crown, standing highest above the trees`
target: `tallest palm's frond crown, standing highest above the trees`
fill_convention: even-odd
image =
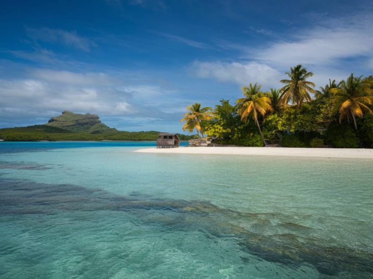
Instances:
[[[312,87],[315,84],[311,81],[307,81],[307,78],[314,75],[312,71],[307,71],[302,65],[297,65],[294,68],[290,68],[290,72],[286,72],[290,79],[283,79],[280,82],[286,85],[280,89],[281,102],[287,104],[290,100],[293,104],[297,105],[298,111],[302,106],[302,102],[311,101],[310,93],[315,93]]]

